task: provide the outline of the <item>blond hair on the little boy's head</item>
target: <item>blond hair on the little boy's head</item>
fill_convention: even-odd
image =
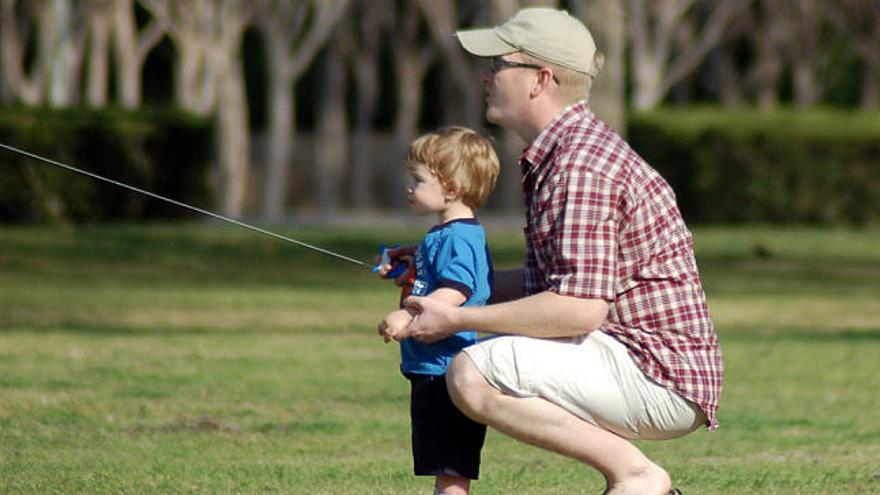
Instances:
[[[466,127],[449,126],[425,134],[410,145],[406,166],[422,164],[448,191],[477,209],[498,180],[498,156],[488,139]]]

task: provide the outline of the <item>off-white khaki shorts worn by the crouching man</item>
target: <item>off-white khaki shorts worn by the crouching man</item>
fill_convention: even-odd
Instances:
[[[505,394],[541,397],[624,438],[675,438],[706,423],[696,404],[648,378],[623,344],[600,331],[491,337],[464,352]]]

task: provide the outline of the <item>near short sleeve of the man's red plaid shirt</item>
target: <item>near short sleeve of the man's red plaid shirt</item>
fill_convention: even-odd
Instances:
[[[573,158],[587,159],[568,160]],[[568,167],[560,179],[554,193],[558,215],[550,236],[554,256],[545,272],[548,289],[613,301],[618,247],[614,182],[579,166]]]

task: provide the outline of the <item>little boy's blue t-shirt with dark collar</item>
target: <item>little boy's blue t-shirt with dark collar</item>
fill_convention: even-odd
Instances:
[[[467,297],[462,306],[483,306],[492,291],[492,259],[486,232],[473,218],[452,220],[435,226],[416,251],[416,278],[412,295],[427,296],[443,287]],[[400,343],[404,373],[445,375],[452,358],[475,343],[477,332],[459,332],[433,344],[415,339]]]

